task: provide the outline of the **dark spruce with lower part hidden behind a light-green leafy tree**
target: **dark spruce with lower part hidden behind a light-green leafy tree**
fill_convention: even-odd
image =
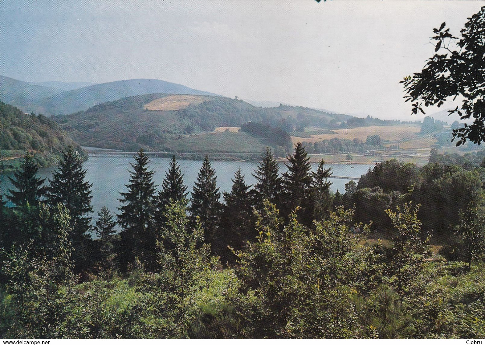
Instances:
[[[170,162],[170,167],[168,168],[165,178],[162,182],[162,190],[159,191],[156,200],[156,210],[155,210],[155,224],[158,230],[162,229],[166,218],[165,205],[172,199],[173,202],[181,201],[187,197],[187,186],[183,181],[183,174],[180,166],[172,156],[172,161]]]

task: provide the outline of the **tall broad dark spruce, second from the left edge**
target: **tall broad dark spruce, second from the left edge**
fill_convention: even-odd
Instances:
[[[52,179],[49,179],[46,193],[46,201],[49,205],[55,206],[61,203],[69,212],[71,228],[69,240],[75,249],[73,259],[77,269],[87,268],[84,266],[88,264],[87,250],[90,248],[91,240],[89,230],[91,230],[92,217],[88,214],[93,212],[91,206],[93,184],[85,179],[86,170],[82,169],[81,156],[72,146],[68,146],[63,151],[58,170],[54,171]]]

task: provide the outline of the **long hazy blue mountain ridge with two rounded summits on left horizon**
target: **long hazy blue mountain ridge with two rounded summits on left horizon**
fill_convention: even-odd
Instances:
[[[47,83],[54,85],[52,82]],[[63,88],[73,86],[56,85]],[[210,92],[195,90],[184,85],[157,79],[131,79],[105,82],[63,91],[59,88],[35,85],[7,77],[0,77],[0,100],[14,104],[24,112],[41,113],[44,115],[71,114],[86,110],[100,103],[114,101],[123,97],[153,93],[215,95]]]

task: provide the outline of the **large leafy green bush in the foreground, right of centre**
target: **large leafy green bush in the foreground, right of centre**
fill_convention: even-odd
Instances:
[[[352,212],[339,209],[306,228],[291,214],[283,226],[275,205],[257,215],[259,237],[237,252],[239,285],[230,300],[251,338],[354,338],[364,334],[356,309]]]

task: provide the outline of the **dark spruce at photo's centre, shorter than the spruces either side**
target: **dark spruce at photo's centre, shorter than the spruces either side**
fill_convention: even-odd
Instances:
[[[221,228],[216,236],[214,251],[221,256],[222,263],[234,263],[236,256],[227,246],[241,250],[246,241],[256,240],[256,230],[253,226],[253,212],[249,188],[244,181],[241,168],[234,174],[231,192],[224,192],[224,212]]]

